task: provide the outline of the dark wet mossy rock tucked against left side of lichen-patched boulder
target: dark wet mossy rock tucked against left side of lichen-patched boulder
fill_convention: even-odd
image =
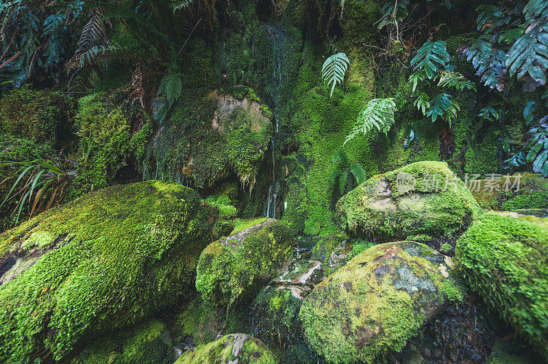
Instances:
[[[282,363],[318,363],[303,337],[299,309],[312,285],[268,285],[251,304],[253,336],[268,346]]]

